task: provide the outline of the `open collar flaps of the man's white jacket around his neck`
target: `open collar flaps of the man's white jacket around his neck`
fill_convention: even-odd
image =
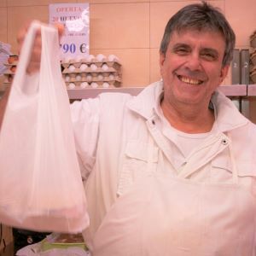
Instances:
[[[149,84],[140,94],[128,102],[128,108],[143,116],[144,119],[150,119],[160,104],[162,94],[162,81]],[[211,102],[214,106],[215,116],[217,117],[214,125],[218,128],[218,131],[230,131],[249,122],[237,110],[234,103],[224,96],[220,90],[216,90],[213,93]]]

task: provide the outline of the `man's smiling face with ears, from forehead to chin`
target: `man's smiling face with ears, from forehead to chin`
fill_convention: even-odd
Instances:
[[[222,83],[225,42],[218,32],[173,32],[166,55],[160,54],[164,102],[207,108],[212,92]]]

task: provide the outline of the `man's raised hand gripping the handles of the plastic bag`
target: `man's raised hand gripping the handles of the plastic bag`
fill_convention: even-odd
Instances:
[[[28,22],[25,26],[23,26],[20,29],[20,32],[18,32],[17,42],[19,44],[19,52],[24,42],[24,39],[26,37],[27,30],[31,23],[32,21]],[[55,26],[58,29],[59,37],[61,38],[64,32],[64,26],[60,23],[56,23]],[[29,61],[28,67],[26,68],[27,73],[35,73],[39,70],[40,60],[41,60],[41,49],[42,49],[41,31],[40,29],[38,29],[36,33],[35,41],[33,44],[31,59]]]

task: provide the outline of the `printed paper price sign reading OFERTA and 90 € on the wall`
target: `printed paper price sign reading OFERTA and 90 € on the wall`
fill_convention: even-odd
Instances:
[[[89,55],[89,3],[49,4],[49,23],[62,23],[61,60]]]

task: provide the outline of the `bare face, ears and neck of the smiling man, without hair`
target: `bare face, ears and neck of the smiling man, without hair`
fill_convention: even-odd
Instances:
[[[221,32],[204,28],[173,32],[166,52],[160,52],[164,81],[161,108],[177,129],[191,133],[211,130],[214,115],[208,105],[229,68],[223,65],[224,49]]]

